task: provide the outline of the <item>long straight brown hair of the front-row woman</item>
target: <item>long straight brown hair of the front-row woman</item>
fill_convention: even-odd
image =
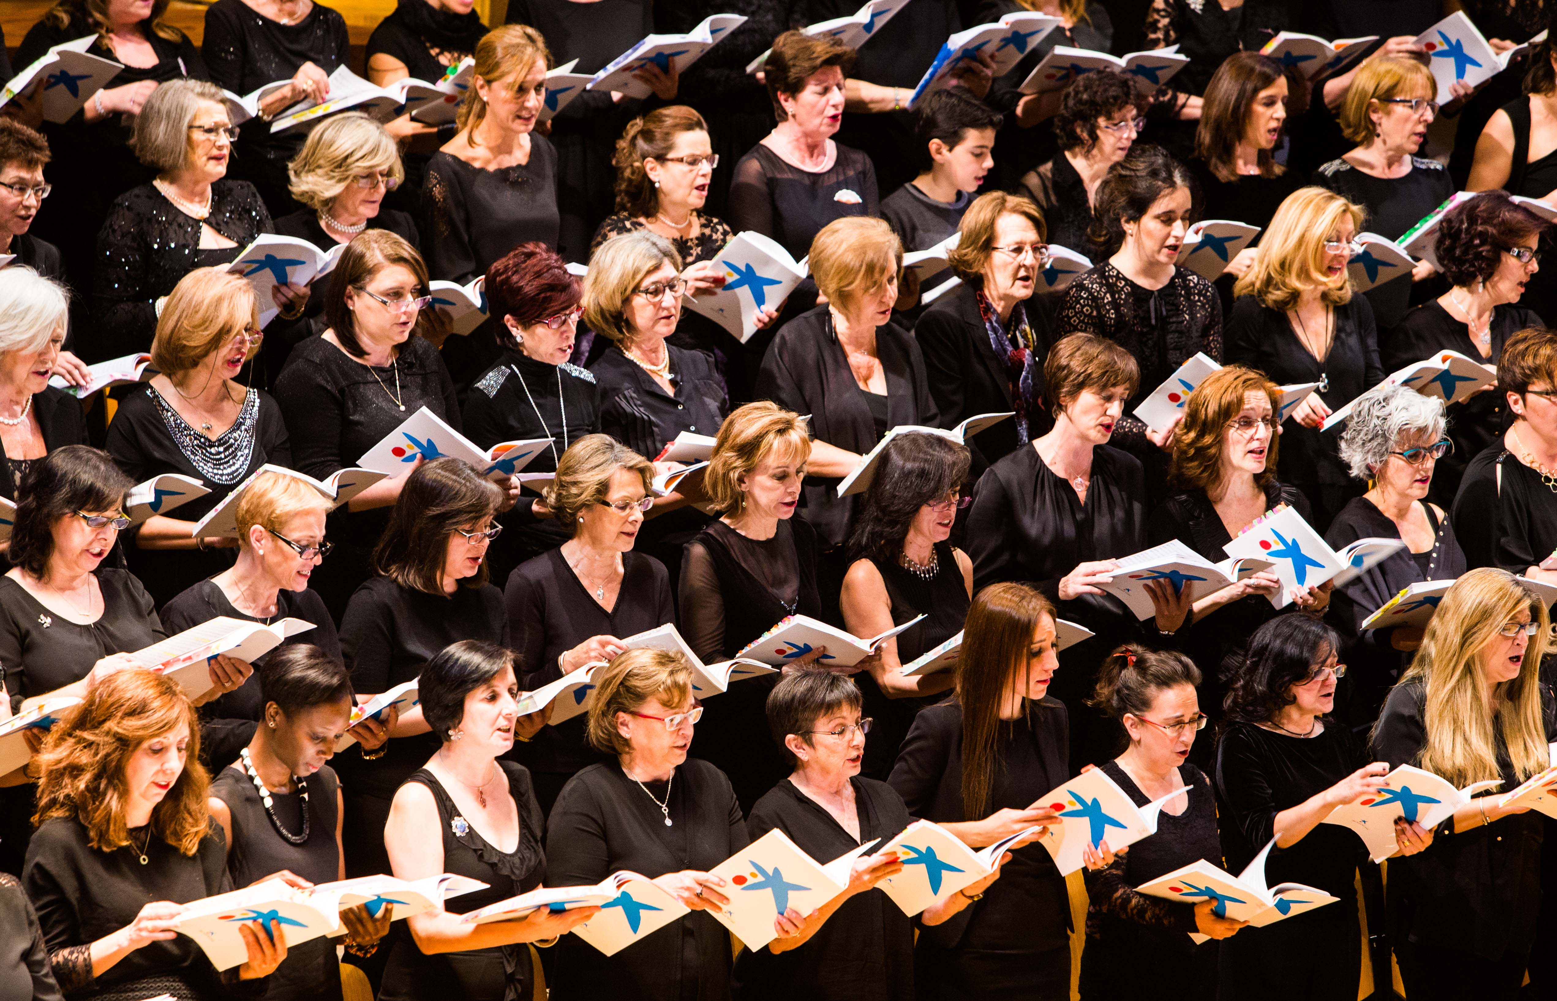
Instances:
[[[990,584],[968,609],[956,687],[962,707],[964,820],[989,813],[990,791],[1001,767],[995,757],[1000,702],[1012,679],[1032,669],[1028,651],[1045,616],[1054,620],[1054,606],[1026,584]]]

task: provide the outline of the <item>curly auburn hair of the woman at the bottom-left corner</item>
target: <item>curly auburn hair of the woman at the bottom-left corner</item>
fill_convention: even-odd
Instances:
[[[199,718],[171,677],[139,668],[115,671],[87,691],[54,725],[39,753],[37,813],[33,824],[64,817],[87,830],[87,844],[114,852],[129,844],[125,766],[149,739],[188,727],[185,764],[168,794],[151,810],[151,831],[181,855],[195,855],[210,828],[199,763]]]

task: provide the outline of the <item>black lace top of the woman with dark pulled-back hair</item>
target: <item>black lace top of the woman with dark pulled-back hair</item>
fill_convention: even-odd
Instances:
[[[1141,381],[1113,425],[1112,444],[1137,455],[1157,451],[1146,425],[1132,416],[1141,400],[1196,352],[1222,360],[1222,304],[1211,283],[1188,268],[1176,268],[1166,285],[1152,290],[1105,262],[1065,290],[1054,328],[1095,333],[1135,355]]]

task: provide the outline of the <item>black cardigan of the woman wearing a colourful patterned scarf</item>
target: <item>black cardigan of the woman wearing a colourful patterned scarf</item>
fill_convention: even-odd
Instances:
[[[1043,363],[1054,341],[1049,311],[1034,296],[1023,304],[1028,324],[1037,339],[1040,361],[1034,372],[1034,394],[1043,399]],[[930,374],[930,395],[940,411],[942,427],[954,428],[976,414],[998,414],[1010,409],[1010,372],[1006,360],[995,353],[989,330],[978,311],[978,291],[962,285],[942,296],[914,324],[914,339],[925,355]],[[1028,441],[1048,434],[1054,420],[1046,409],[1028,414]],[[986,469],[1017,450],[1017,422],[1001,420],[967,442],[973,453],[970,481]]]

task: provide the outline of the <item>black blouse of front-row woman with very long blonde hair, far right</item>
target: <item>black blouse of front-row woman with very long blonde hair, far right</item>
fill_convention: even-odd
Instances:
[[[1417,679],[1397,685],[1384,702],[1373,730],[1373,753],[1390,767],[1417,764],[1426,747],[1426,685]],[[1557,739],[1557,707],[1541,685],[1545,739]],[[1495,735],[1498,777],[1513,789],[1529,775],[1518,775],[1509,760],[1501,727]],[[1482,792],[1481,796],[1487,796]],[[1541,838],[1546,820],[1521,813],[1451,833],[1445,820],[1426,852],[1389,867],[1390,912],[1397,940],[1422,950],[1474,953],[1488,962],[1521,956],[1535,940],[1535,915],[1541,906]]]

